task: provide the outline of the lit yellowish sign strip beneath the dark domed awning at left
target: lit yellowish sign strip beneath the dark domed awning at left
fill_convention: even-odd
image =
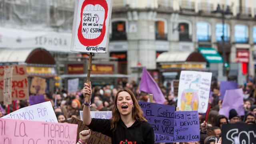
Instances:
[[[54,68],[43,66],[27,66],[27,72],[30,74],[55,74]]]

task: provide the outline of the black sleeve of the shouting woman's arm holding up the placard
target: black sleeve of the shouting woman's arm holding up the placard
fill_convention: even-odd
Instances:
[[[111,121],[108,119],[92,118],[92,121],[88,127],[94,132],[101,132],[106,136],[112,137],[110,124],[111,124]]]

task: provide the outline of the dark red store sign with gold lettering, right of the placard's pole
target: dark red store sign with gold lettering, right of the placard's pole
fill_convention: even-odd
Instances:
[[[91,74],[114,74],[114,65],[92,64]]]

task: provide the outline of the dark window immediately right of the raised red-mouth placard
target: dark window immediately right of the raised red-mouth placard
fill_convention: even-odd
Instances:
[[[112,22],[110,40],[127,40],[126,25],[124,21]]]

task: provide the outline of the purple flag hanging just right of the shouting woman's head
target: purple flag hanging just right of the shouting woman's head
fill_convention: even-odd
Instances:
[[[146,68],[143,68],[143,71],[142,71],[139,90],[143,92],[147,92],[149,94],[153,94],[153,99],[158,104],[163,104],[166,101],[158,84],[152,78],[152,76],[148,73]]]

